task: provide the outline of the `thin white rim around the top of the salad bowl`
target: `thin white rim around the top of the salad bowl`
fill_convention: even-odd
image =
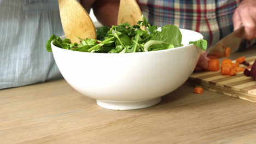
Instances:
[[[199,32],[196,32],[196,31],[192,31],[190,29],[184,29],[184,28],[179,28],[180,30],[182,31],[190,31],[190,32],[193,32],[193,33],[197,33],[200,35],[200,39],[203,39],[203,35]],[[62,35],[60,36],[61,39],[65,38],[66,35]],[[200,40],[199,39],[199,40]],[[51,46],[54,46],[52,47],[52,49],[54,48],[59,48],[61,50],[67,50],[67,49],[62,49],[61,47],[57,47],[53,44],[53,41],[51,41]],[[175,47],[173,49],[166,49],[166,50],[158,50],[158,51],[145,51],[145,52],[130,52],[130,53],[96,53],[96,52],[83,52],[83,53],[91,53],[90,55],[147,55],[148,53],[161,53],[161,52],[167,52],[167,51],[175,51],[175,50],[179,50],[179,49],[185,49],[186,47],[190,47],[191,45],[194,45],[194,44],[188,44],[188,45],[183,45],[183,46],[180,46],[180,47]],[[197,49],[200,49],[199,47],[197,47]],[[201,50],[201,49],[200,49]],[[71,51],[71,50],[67,50],[67,51]],[[82,53],[81,51],[72,51],[72,52],[79,52],[79,53]]]

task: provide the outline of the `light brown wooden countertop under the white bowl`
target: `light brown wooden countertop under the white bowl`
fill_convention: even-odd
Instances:
[[[256,104],[184,84],[153,107],[116,111],[56,80],[0,91],[0,143],[256,143]]]

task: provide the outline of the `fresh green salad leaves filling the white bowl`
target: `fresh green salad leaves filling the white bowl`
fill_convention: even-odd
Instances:
[[[147,30],[143,30],[144,27]],[[183,46],[182,34],[179,28],[173,25],[165,25],[158,31],[158,27],[150,26],[143,16],[137,25],[120,23],[118,26],[101,27],[97,29],[97,40],[81,39],[80,44],[71,43],[69,39],[62,40],[53,34],[46,43],[46,50],[51,52],[51,41],[57,47],[72,51],[97,52],[97,53],[129,53],[173,49]],[[206,50],[207,41],[190,41],[202,50]]]

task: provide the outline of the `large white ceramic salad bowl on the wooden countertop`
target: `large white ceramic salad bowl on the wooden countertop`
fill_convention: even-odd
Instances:
[[[158,104],[193,73],[201,49],[189,41],[203,36],[180,30],[184,46],[152,52],[89,53],[51,46],[61,74],[78,92],[107,109],[142,109]]]

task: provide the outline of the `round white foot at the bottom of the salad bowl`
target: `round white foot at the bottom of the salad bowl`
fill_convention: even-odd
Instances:
[[[160,98],[146,100],[146,101],[111,101],[111,100],[97,100],[97,104],[101,107],[111,110],[135,110],[143,109],[158,104]]]

